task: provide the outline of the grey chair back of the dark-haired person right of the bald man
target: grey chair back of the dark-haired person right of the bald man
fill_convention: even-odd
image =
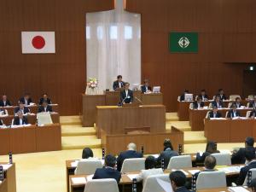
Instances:
[[[182,169],[192,167],[192,160],[190,155],[181,155],[172,157],[169,161],[167,169]]]

